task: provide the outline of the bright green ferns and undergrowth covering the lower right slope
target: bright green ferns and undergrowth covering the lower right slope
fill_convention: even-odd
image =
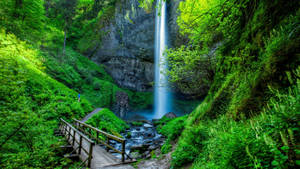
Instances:
[[[294,74],[298,79],[290,81],[296,84],[282,92],[270,88],[274,96],[261,114],[251,119],[237,122],[221,115],[215,120],[201,120],[213,103],[206,99],[188,118],[172,165],[176,168],[197,159],[193,168],[295,166],[295,161],[288,159],[295,159],[294,140],[299,137],[299,68]],[[201,135],[198,146],[192,143],[196,135]]]

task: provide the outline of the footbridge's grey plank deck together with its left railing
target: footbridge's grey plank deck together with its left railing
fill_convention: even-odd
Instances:
[[[65,122],[64,120],[62,121]],[[67,122],[65,122],[65,124],[65,126],[61,126],[62,134],[66,136],[68,143],[72,145],[74,149],[73,153],[79,155],[80,160],[85,163],[84,165],[90,165],[90,168],[92,169],[113,169],[120,167],[122,169],[134,169],[132,166],[126,164],[129,161],[122,162],[120,159],[114,157],[112,154],[102,148],[100,144],[95,144],[93,140],[89,139],[71,124]],[[89,155],[91,155],[90,163]]]

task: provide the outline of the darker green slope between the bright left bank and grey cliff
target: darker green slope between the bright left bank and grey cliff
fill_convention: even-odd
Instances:
[[[94,106],[110,107],[119,89],[103,66],[67,48],[64,58],[45,53],[46,71],[53,78],[85,96]]]

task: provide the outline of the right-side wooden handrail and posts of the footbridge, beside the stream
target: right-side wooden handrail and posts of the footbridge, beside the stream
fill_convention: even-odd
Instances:
[[[91,136],[91,137],[94,137],[95,140],[96,140],[96,142],[99,141],[99,142],[101,142],[103,145],[105,145],[107,148],[110,148],[110,149],[114,150],[115,152],[121,154],[121,155],[122,155],[122,162],[125,161],[125,155],[128,156],[128,157],[131,159],[131,157],[130,157],[128,154],[126,154],[126,152],[125,152],[125,142],[126,142],[125,139],[120,138],[120,137],[117,137],[117,136],[114,136],[114,135],[109,134],[109,133],[107,133],[107,132],[105,132],[105,131],[99,130],[99,129],[97,129],[97,128],[91,126],[91,125],[88,125],[88,124],[86,124],[86,123],[84,123],[84,122],[81,122],[81,121],[79,121],[79,120],[77,120],[77,119],[73,119],[73,120],[75,121],[75,126],[79,127],[79,130],[81,130],[82,132],[85,132],[87,135],[89,135],[89,136]],[[97,136],[95,137],[95,136],[93,136],[92,134],[90,134],[90,133],[84,131],[83,128],[82,128],[82,126],[84,126],[84,127],[86,127],[86,128],[89,128],[89,129],[91,129],[91,130],[94,130],[94,131],[96,132]],[[119,142],[119,143],[122,143],[122,150],[117,150],[117,149],[115,149],[113,146],[109,145],[109,139],[107,139],[107,143],[105,143],[103,140],[100,140],[99,137],[98,137],[98,136],[99,136],[99,133],[100,133],[100,134],[103,134],[104,136],[106,136],[106,137],[109,138],[109,139],[112,139],[112,140],[115,140],[115,141],[117,141],[117,142]],[[107,150],[108,150],[108,149],[107,149]]]

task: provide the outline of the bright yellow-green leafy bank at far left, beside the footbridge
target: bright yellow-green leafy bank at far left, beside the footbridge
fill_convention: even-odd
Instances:
[[[3,30],[0,37],[0,167],[69,166],[54,129],[61,117],[83,117],[90,103],[44,73],[38,50]]]

